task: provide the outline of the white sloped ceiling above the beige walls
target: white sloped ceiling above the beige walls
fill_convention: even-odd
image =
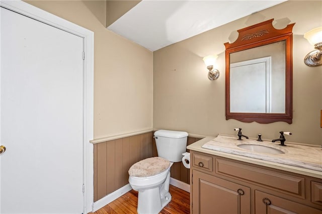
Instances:
[[[155,51],[285,1],[142,0],[108,29]]]

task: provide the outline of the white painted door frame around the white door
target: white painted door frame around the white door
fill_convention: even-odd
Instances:
[[[84,115],[83,115],[83,180],[84,180],[84,213],[92,211],[94,202],[94,32],[52,15],[22,1],[0,1],[0,7],[38,20],[55,28],[84,38]],[[1,44],[0,44],[1,48]],[[1,56],[0,56],[1,59]],[[0,109],[1,111],[1,109]],[[1,188],[1,186],[0,186]],[[1,190],[0,190],[1,191]],[[0,204],[1,206],[1,204]]]

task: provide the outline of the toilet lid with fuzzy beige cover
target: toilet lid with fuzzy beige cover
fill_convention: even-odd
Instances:
[[[150,177],[164,172],[169,166],[170,161],[164,158],[146,158],[133,164],[129,169],[129,175],[132,177]]]

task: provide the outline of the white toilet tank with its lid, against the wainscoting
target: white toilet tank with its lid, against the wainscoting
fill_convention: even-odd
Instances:
[[[157,155],[171,162],[181,162],[187,148],[187,132],[158,130],[154,132]]]

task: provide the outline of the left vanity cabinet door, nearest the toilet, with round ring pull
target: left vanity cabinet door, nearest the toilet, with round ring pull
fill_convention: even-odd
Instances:
[[[250,188],[193,170],[193,213],[249,214]]]

